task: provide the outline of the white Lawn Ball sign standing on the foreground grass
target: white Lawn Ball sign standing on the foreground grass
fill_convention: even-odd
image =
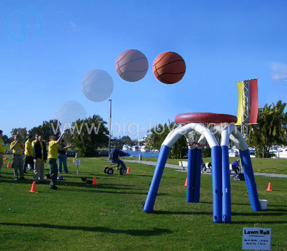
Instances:
[[[243,250],[271,250],[271,228],[243,227]]]

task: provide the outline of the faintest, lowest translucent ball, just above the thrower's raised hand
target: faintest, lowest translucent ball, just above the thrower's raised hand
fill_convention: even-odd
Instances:
[[[87,117],[86,109],[76,101],[66,101],[61,103],[55,112],[55,119],[60,121],[61,128],[69,129],[72,122],[77,119],[85,119]]]

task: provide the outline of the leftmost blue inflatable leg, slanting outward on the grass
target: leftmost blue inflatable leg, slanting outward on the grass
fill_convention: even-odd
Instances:
[[[169,152],[170,152],[169,147],[167,147],[166,145],[161,146],[159,156],[157,159],[157,163],[156,163],[156,167],[154,170],[154,175],[153,175],[153,179],[151,182],[150,190],[147,196],[146,203],[144,205],[144,211],[146,213],[153,212],[153,207],[154,207],[160,179],[162,177],[163,170],[165,169],[165,165],[169,157]]]

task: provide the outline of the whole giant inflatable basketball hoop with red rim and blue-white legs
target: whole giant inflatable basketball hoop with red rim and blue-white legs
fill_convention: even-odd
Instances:
[[[231,140],[238,148],[247,184],[251,208],[260,211],[252,162],[248,145],[234,124],[237,117],[216,113],[186,113],[175,117],[179,127],[172,130],[163,141],[157,159],[154,176],[144,205],[146,213],[152,213],[160,179],[165,169],[170,149],[181,137],[188,143],[187,202],[198,203],[200,199],[200,176],[202,147],[209,145],[212,158],[213,221],[231,222],[231,191],[228,145]],[[221,142],[218,144],[214,131],[220,128]],[[196,136],[197,135],[197,136]]]

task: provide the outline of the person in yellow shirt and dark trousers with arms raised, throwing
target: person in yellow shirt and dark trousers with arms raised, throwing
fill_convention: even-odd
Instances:
[[[49,154],[48,154],[48,163],[50,168],[50,177],[51,177],[51,183],[50,183],[50,189],[57,190],[58,187],[56,186],[57,183],[57,177],[58,177],[58,165],[57,165],[57,159],[58,159],[58,150],[65,151],[65,149],[69,148],[70,145],[67,145],[65,148],[59,147],[59,142],[63,138],[65,132],[57,139],[55,140],[55,135],[50,135],[49,137]]]

